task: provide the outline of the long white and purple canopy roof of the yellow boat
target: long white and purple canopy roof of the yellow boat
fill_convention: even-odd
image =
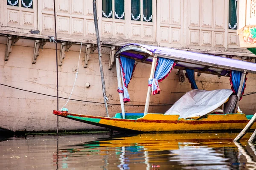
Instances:
[[[124,45],[116,52],[118,56],[132,58],[135,61],[148,64],[151,64],[155,54],[158,57],[174,59],[176,63],[174,68],[181,70],[192,69],[196,72],[227,77],[229,77],[230,70],[241,72],[247,70],[247,73],[256,74],[256,64],[252,62],[172,48],[132,43]]]

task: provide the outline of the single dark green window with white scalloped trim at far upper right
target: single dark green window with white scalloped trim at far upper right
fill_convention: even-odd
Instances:
[[[229,0],[229,16],[228,16],[228,28],[237,29],[237,0]]]

